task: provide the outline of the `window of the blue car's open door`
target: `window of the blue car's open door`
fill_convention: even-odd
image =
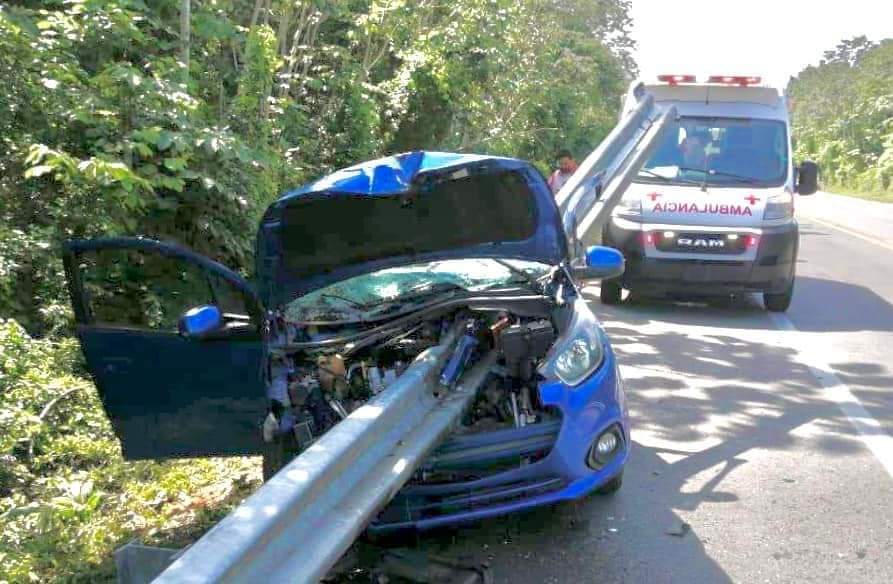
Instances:
[[[175,332],[184,312],[206,304],[247,319],[244,294],[191,262],[140,249],[85,251],[79,259],[93,325]]]

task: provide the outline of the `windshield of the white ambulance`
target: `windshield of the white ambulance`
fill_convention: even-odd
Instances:
[[[785,124],[746,118],[683,117],[636,182],[711,186],[780,186],[787,177]]]

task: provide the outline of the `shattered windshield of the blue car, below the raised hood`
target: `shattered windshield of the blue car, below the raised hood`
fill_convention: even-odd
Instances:
[[[412,264],[315,290],[286,305],[284,314],[291,322],[369,318],[380,314],[386,306],[439,294],[478,292],[506,285],[529,288],[531,281],[550,270],[551,266],[537,262],[489,258]]]

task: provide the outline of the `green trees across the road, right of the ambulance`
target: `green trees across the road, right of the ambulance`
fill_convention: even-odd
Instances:
[[[797,158],[819,164],[825,188],[893,201],[893,39],[841,42],[788,93]]]

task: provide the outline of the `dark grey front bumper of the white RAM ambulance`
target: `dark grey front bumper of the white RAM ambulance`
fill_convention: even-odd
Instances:
[[[793,281],[799,247],[795,221],[760,230],[755,256],[686,259],[650,257],[642,231],[611,221],[603,234],[605,245],[623,252],[626,271],[618,281],[624,288],[651,293],[720,295],[740,292],[783,292]]]

